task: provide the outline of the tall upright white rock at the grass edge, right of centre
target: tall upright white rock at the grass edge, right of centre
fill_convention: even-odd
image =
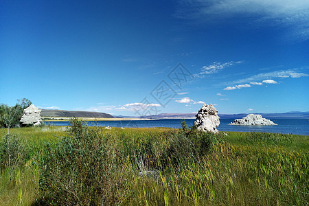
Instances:
[[[196,121],[194,124],[196,125],[197,129],[205,132],[208,131],[211,133],[218,133],[219,131],[216,129],[216,127],[218,127],[220,124],[220,117],[218,117],[217,113],[218,111],[212,104],[204,104],[195,115]]]

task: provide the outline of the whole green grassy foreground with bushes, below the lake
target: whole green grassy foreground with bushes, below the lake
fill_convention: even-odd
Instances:
[[[0,205],[308,205],[309,137],[0,129]]]

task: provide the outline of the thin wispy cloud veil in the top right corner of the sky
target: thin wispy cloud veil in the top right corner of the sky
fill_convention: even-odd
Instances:
[[[309,1],[307,0],[182,0],[175,16],[181,19],[214,23],[250,16],[258,26],[286,28],[286,35],[309,38]]]

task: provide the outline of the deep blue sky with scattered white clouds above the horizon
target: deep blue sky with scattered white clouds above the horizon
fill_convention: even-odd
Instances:
[[[4,104],[309,111],[305,0],[1,1],[0,48]]]

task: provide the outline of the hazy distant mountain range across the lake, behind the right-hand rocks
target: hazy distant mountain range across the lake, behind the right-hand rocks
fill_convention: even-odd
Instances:
[[[254,113],[262,115],[264,118],[280,118],[280,119],[309,119],[309,112],[287,112],[287,113]],[[218,114],[221,119],[239,119],[246,117],[249,113],[240,114]],[[161,113],[159,115],[141,116],[141,118],[149,119],[194,119],[195,113]]]

